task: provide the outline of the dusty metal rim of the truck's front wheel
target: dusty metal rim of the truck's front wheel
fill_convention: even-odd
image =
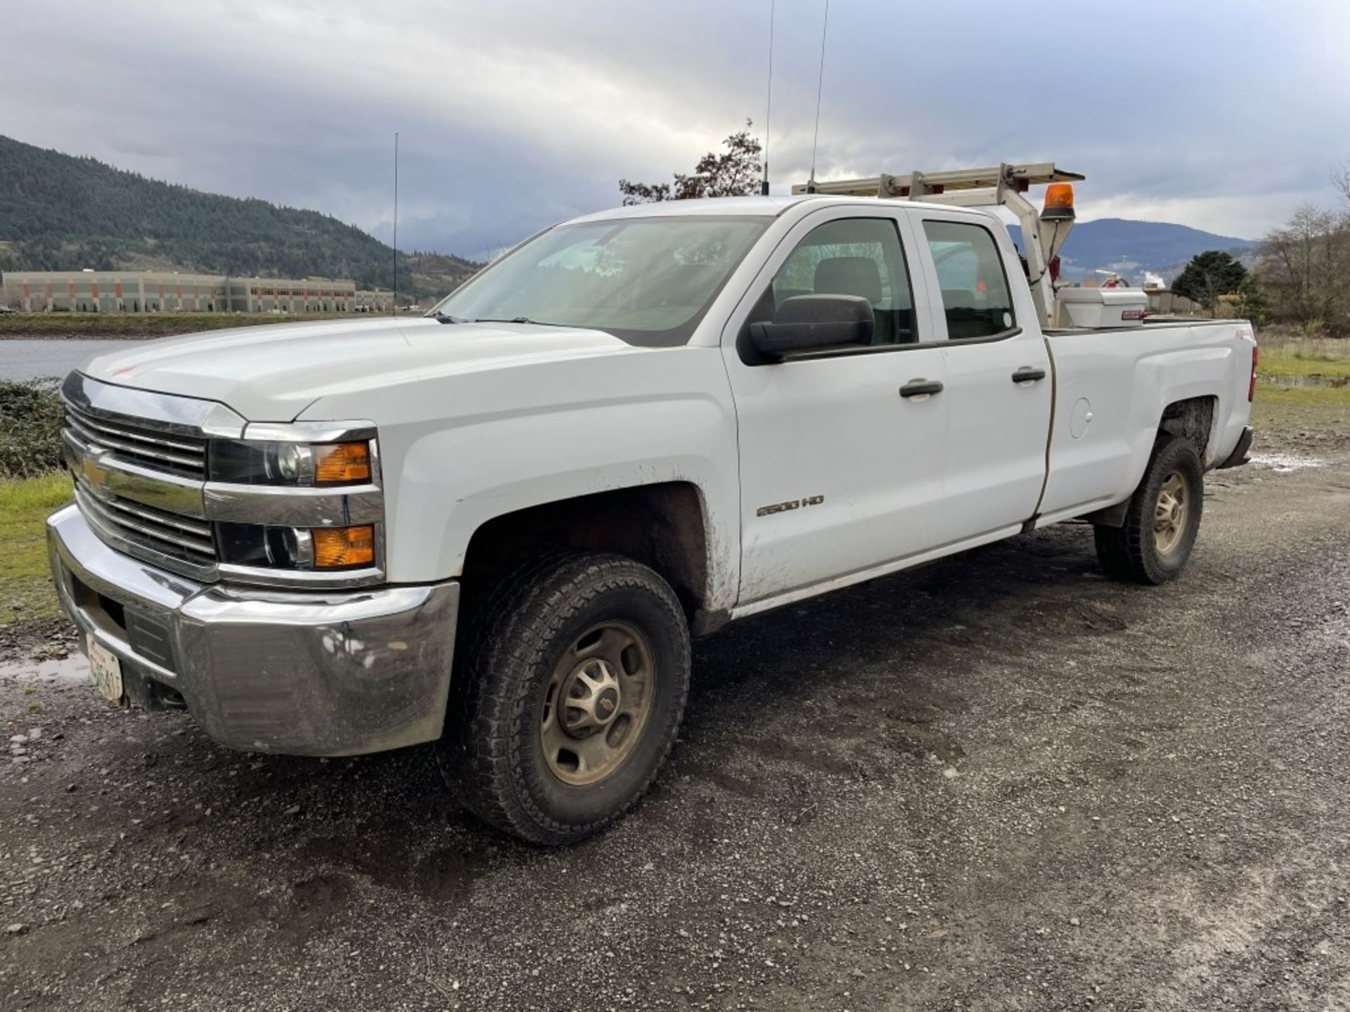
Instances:
[[[655,688],[652,648],[636,626],[601,622],[578,636],[544,694],[539,741],[549,772],[580,787],[618,769],[643,735]]]

